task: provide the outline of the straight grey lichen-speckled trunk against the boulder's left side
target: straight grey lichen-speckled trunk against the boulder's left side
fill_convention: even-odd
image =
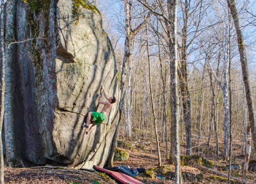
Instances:
[[[13,119],[13,56],[15,45],[10,43],[15,40],[15,13],[16,13],[16,0],[8,0],[6,2],[6,29],[5,29],[5,60],[6,60],[6,89],[5,89],[5,113],[4,113],[4,129],[5,129],[5,144],[6,144],[6,161],[10,166],[14,166],[16,160],[16,145],[14,138],[14,119]]]

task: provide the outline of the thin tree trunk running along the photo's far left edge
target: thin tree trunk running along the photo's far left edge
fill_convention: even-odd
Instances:
[[[0,111],[0,184],[4,184],[4,154],[2,141],[2,127],[5,110],[5,40],[4,40],[4,0],[1,0],[0,12],[0,33],[1,33],[1,111]]]

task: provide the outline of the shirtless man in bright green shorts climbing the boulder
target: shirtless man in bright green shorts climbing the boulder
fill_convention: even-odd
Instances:
[[[115,97],[110,97],[110,98],[107,97],[107,94],[106,94],[106,92],[104,90],[104,87],[102,85],[101,85],[101,88],[103,90],[104,96],[107,99],[107,101],[101,100],[101,94],[97,93],[97,95],[99,97],[99,103],[104,104],[104,107],[103,107],[101,112],[95,112],[95,111],[88,112],[86,124],[82,125],[82,127],[89,128],[89,123],[90,123],[91,118],[93,118],[95,121],[93,122],[89,131],[86,132],[86,134],[88,134],[90,131],[92,131],[92,129],[95,127],[95,125],[98,125],[98,124],[102,123],[106,119],[106,116],[109,113],[109,111],[111,110],[111,108],[113,106],[113,103],[116,102]]]

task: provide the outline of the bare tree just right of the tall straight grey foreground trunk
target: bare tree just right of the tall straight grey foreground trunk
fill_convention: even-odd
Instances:
[[[179,66],[179,88],[181,92],[182,120],[185,123],[186,131],[186,155],[191,155],[191,95],[189,90],[189,70],[188,70],[188,48],[198,35],[201,24],[204,6],[202,0],[179,0],[182,10],[181,44],[179,45],[180,66]],[[193,5],[193,7],[191,7]],[[198,14],[196,14],[198,13]],[[181,23],[180,23],[181,24]],[[193,30],[193,31],[190,31]]]

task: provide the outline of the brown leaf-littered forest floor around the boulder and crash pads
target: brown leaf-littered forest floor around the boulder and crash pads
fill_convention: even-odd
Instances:
[[[123,150],[129,152],[130,158],[127,161],[115,161],[114,166],[130,166],[133,167],[143,167],[145,169],[157,168],[158,158],[155,150],[152,150],[151,146],[141,149],[142,145],[133,147],[133,149]],[[239,146],[239,145],[238,145]],[[152,147],[153,148],[153,147]],[[182,148],[182,147],[181,147]],[[236,149],[234,149],[236,150]],[[241,150],[241,147],[240,149]],[[182,151],[182,149],[181,149]],[[203,151],[202,151],[203,153]],[[214,170],[221,173],[228,174],[228,171],[220,171],[220,168],[228,165],[227,161],[222,161],[220,157],[211,155],[212,152],[204,152],[202,155],[204,158],[214,162]],[[161,151],[162,155],[162,165],[167,165],[169,169],[173,172],[175,168],[173,165],[168,165],[165,161],[165,152]],[[238,154],[238,153],[236,153]],[[194,154],[196,155],[196,154]],[[238,155],[234,155],[233,163],[243,165],[243,158],[240,158]],[[193,166],[181,166],[182,172],[193,173],[193,174],[203,174],[203,180],[201,184],[227,184],[227,181],[224,178],[214,177],[214,173],[207,171],[201,171]],[[238,179],[243,179],[243,171],[235,170],[232,171],[232,176]],[[256,183],[256,174],[248,172],[245,174],[246,183],[254,184]],[[143,178],[137,177],[138,180],[143,182],[143,184],[174,184],[174,180],[167,180],[161,178]],[[37,167],[37,168],[5,168],[5,183],[6,184],[117,184],[113,179],[107,177],[105,174],[98,172],[89,172],[84,170],[77,170],[71,168],[50,168],[50,167]],[[183,184],[192,184],[192,181],[184,181]],[[234,182],[239,184],[239,182]],[[194,182],[193,184],[196,184]]]

